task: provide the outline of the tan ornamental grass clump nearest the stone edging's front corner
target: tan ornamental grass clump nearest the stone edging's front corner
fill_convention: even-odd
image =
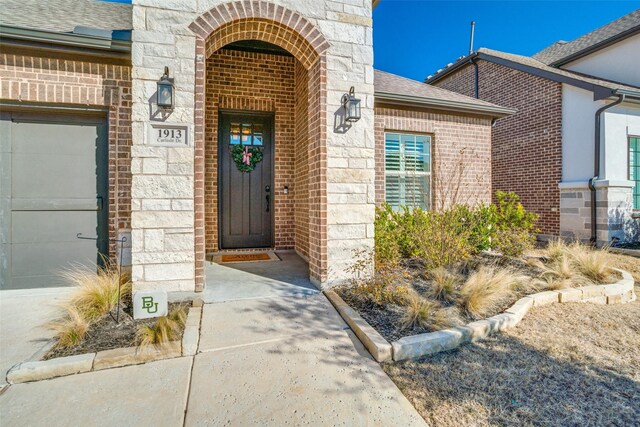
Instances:
[[[438,303],[411,294],[404,307],[402,328],[423,327],[431,331],[459,324],[459,318],[453,309],[442,308]]]

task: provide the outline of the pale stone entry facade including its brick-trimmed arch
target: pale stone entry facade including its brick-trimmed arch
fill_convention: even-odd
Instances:
[[[205,61],[224,45],[243,39],[285,47],[308,72],[310,273],[322,284],[348,277],[353,250],[373,247],[371,234],[363,231],[344,238],[340,232],[343,225],[364,229],[374,219],[371,18],[370,0],[133,1],[132,156],[167,166],[148,174],[134,172],[135,289],[202,290],[204,286]],[[153,101],[165,66],[175,78],[176,106],[162,117],[153,114]],[[362,119],[346,133],[336,132],[334,114],[350,86],[362,99]],[[189,124],[194,144],[148,146],[148,125],[161,119]],[[359,159],[358,166],[332,166],[351,159]],[[363,190],[366,200],[356,194]],[[147,233],[156,238],[182,237],[180,245],[160,246],[151,235],[146,239]]]

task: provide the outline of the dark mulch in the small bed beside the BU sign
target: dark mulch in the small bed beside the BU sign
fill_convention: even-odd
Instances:
[[[180,305],[177,303],[169,304],[169,311]],[[80,344],[70,348],[54,347],[44,356],[43,360],[95,353],[114,348],[133,347],[136,345],[135,338],[138,328],[141,325],[151,326],[156,321],[156,319],[135,320],[132,317],[131,309],[127,306],[120,310],[119,323],[116,323],[115,318],[116,310],[114,309],[110,315],[103,317],[89,327],[85,339]],[[182,334],[182,331],[180,333]]]

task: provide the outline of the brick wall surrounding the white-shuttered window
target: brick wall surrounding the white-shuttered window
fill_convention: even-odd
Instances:
[[[431,110],[375,108],[376,203],[385,198],[384,134],[431,135],[432,206],[491,200],[491,119]],[[460,166],[461,165],[461,166]]]

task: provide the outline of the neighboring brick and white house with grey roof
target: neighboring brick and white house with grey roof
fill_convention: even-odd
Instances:
[[[602,245],[640,238],[638,64],[640,10],[533,57],[479,49],[426,81],[516,109],[493,129],[493,190],[518,193],[542,234]]]

